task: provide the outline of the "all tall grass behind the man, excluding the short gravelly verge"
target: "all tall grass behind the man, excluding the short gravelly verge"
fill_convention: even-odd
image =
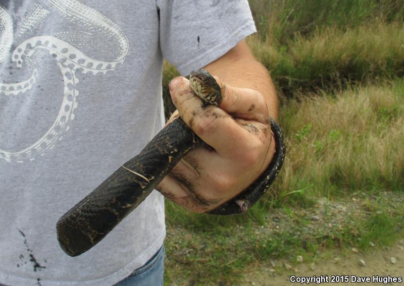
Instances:
[[[250,5],[259,33],[247,43],[280,93],[293,95],[281,107],[288,144],[281,179],[274,196],[245,215],[187,215],[169,203],[168,222],[224,227],[262,221],[262,210],[285,199],[311,205],[313,195],[403,189],[404,151],[397,142],[404,142],[404,84],[386,79],[404,75],[404,2],[251,0]],[[276,32],[282,25],[283,34]],[[165,63],[165,95],[176,75]],[[169,115],[173,105],[169,98],[165,102]]]

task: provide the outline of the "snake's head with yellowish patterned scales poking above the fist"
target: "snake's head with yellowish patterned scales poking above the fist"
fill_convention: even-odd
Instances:
[[[189,85],[204,102],[217,106],[222,102],[220,85],[207,70],[192,71],[189,75]]]

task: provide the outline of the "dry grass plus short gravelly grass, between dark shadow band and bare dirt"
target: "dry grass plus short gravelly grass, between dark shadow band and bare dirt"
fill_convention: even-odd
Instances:
[[[345,246],[366,250],[402,236],[403,101],[404,80],[285,101],[280,121],[288,155],[270,194],[230,217],[166,203],[166,281],[233,284],[255,263],[293,263],[297,254]],[[322,198],[327,203],[319,205]]]

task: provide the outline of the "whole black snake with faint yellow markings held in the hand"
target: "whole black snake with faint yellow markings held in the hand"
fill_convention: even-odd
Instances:
[[[191,72],[189,85],[203,99],[203,105],[220,105],[221,87],[208,71]],[[207,213],[245,212],[270,188],[282,167],[286,149],[281,128],[274,119],[269,122],[276,148],[267,169],[237,196]],[[56,230],[62,250],[69,256],[78,256],[92,248],[157,187],[185,154],[204,145],[207,144],[181,117],[166,125],[138,155],[60,217]]]

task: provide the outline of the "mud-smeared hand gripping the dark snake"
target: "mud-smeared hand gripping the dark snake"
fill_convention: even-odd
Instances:
[[[170,83],[181,116],[208,145],[189,152],[157,187],[170,200],[193,212],[206,212],[230,200],[254,182],[275,153],[275,141],[263,95],[223,83],[219,107],[203,107],[183,77]]]

